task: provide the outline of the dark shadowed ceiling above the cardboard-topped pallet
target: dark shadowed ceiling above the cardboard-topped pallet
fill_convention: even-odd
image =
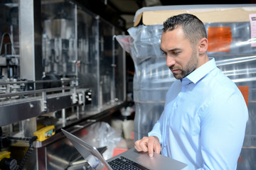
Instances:
[[[102,16],[120,28],[127,30],[133,26],[134,15],[139,8],[147,6],[171,6],[188,4],[255,4],[256,0],[75,0],[97,15]]]

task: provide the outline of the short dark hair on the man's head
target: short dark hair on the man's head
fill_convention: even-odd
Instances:
[[[202,38],[207,38],[203,22],[192,14],[182,13],[177,16],[171,16],[164,21],[163,31],[165,33],[166,31],[174,30],[178,26],[183,28],[184,35],[191,42],[191,45],[196,45]]]

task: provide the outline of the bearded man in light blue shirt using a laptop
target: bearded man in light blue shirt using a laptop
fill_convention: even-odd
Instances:
[[[188,169],[236,169],[248,111],[238,87],[207,55],[206,28],[183,13],[164,22],[161,50],[177,79],[166,94],[161,117],[141,152],[164,154]]]

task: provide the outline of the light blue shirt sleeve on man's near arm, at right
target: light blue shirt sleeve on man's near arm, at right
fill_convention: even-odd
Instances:
[[[201,115],[201,169],[235,169],[248,119],[245,101],[235,91],[225,92],[203,108],[206,111]]]

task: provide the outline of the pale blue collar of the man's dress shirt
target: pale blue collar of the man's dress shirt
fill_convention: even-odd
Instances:
[[[184,77],[182,81],[185,79],[188,79],[192,81],[194,84],[196,84],[200,79],[206,76],[206,74],[208,74],[210,71],[215,69],[216,67],[215,59],[212,57],[209,57],[209,59],[210,60],[208,62],[201,65],[201,67],[198,67],[197,69],[195,69],[193,72],[191,72],[191,74],[188,74],[188,76]]]

